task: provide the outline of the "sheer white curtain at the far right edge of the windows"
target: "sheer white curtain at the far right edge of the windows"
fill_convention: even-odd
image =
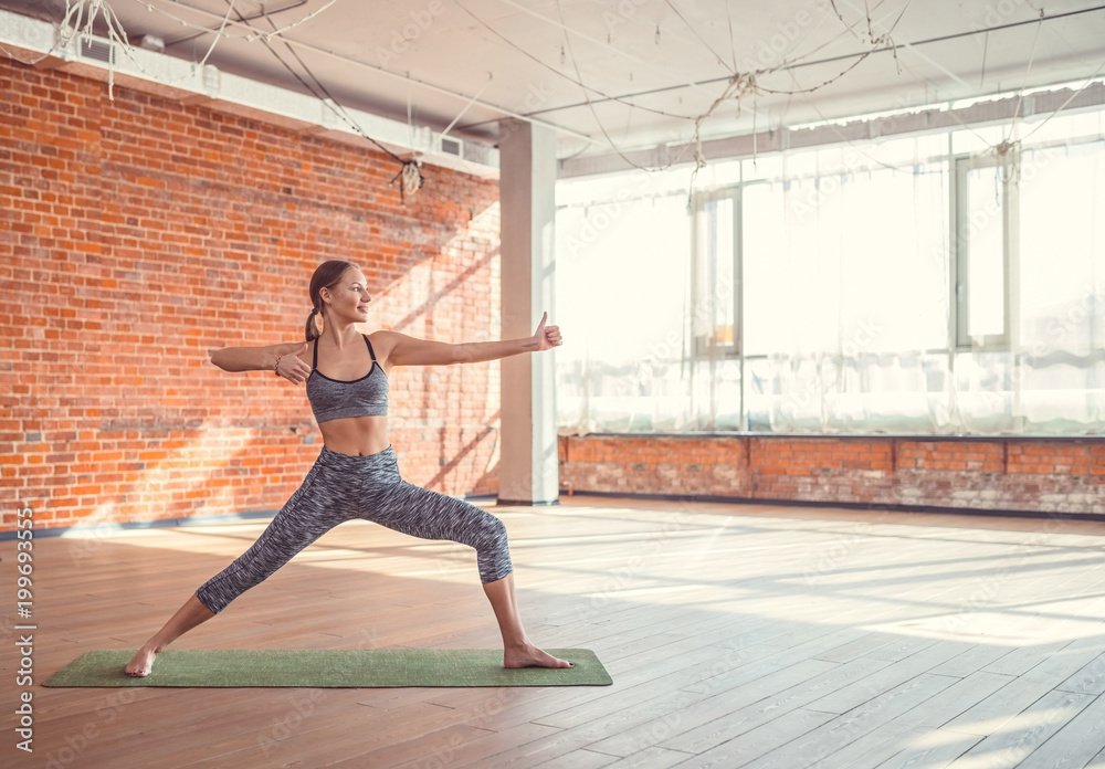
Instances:
[[[1102,432],[1105,143],[1025,150],[1011,172],[1020,196],[1013,345],[960,357],[961,381],[989,396],[960,417],[1009,432]]]

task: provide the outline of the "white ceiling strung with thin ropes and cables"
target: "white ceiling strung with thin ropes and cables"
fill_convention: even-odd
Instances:
[[[302,22],[270,45],[313,83],[291,46],[338,103],[404,122],[409,104],[417,125],[457,120],[453,135],[492,143],[497,120],[522,116],[558,129],[561,158],[684,143],[712,106],[704,139],[1067,83],[1105,63],[1105,3],[1080,0],[329,1],[105,4],[133,43],[152,34],[192,61],[227,18],[207,62],[296,91],[248,35]],[[53,20],[65,9],[0,4]],[[756,89],[738,102],[734,73],[750,72]]]

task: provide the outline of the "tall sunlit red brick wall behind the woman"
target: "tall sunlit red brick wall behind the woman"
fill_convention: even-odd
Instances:
[[[376,316],[498,336],[497,182],[417,202],[364,148],[0,61],[0,530],[278,508],[318,453],[302,388],[211,348],[302,339],[307,281],[359,263]],[[492,493],[494,364],[392,380],[412,482]]]

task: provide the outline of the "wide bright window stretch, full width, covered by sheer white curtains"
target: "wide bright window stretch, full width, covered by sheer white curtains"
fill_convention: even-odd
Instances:
[[[558,364],[561,428],[1102,433],[1105,119],[1090,125],[735,161],[690,196],[686,173],[653,175],[660,192],[586,256],[603,193],[572,182],[557,293],[588,307],[559,317],[588,341]]]

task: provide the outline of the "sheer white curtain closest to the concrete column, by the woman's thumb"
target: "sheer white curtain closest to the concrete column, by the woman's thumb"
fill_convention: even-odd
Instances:
[[[686,198],[640,178],[592,187],[557,210],[559,424],[575,433],[686,430]],[[589,202],[592,191],[606,199]]]

